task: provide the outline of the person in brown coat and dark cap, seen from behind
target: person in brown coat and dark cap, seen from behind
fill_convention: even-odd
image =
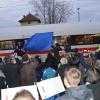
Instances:
[[[23,66],[21,68],[21,80],[22,86],[33,85],[36,82],[35,69],[37,64],[34,61],[30,62],[30,58],[27,54],[23,55]]]

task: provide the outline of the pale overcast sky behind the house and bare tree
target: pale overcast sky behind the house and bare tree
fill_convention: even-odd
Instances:
[[[29,12],[33,13],[31,0],[0,0],[0,28],[20,26],[18,20]],[[38,0],[37,0],[38,1]],[[64,0],[66,1],[66,0]],[[80,8],[81,22],[100,21],[100,0],[68,0],[74,14],[69,22],[78,21],[77,8]]]

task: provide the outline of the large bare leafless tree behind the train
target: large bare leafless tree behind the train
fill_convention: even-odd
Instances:
[[[32,0],[38,17],[45,24],[66,22],[72,14],[72,8],[68,1],[56,0]]]

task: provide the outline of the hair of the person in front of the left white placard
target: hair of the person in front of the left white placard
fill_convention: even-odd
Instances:
[[[29,97],[29,98],[31,98],[31,100],[35,100],[33,95],[28,90],[25,90],[25,89],[17,92],[12,100],[16,100],[19,97]]]

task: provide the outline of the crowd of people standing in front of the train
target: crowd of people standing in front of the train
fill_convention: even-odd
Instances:
[[[69,50],[56,43],[44,62],[28,54],[0,58],[0,89],[33,85],[58,75],[66,91],[46,100],[99,100],[93,87],[100,80],[100,50],[84,57],[77,48]]]

